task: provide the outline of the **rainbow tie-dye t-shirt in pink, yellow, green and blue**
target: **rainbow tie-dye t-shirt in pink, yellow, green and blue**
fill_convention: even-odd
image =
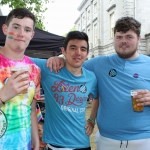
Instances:
[[[11,68],[16,66],[29,67],[30,83],[26,94],[18,94],[1,105],[8,126],[3,136],[0,136],[0,150],[31,149],[31,103],[40,97],[40,69],[27,56],[23,60],[11,60],[0,54],[0,89],[11,76]]]

